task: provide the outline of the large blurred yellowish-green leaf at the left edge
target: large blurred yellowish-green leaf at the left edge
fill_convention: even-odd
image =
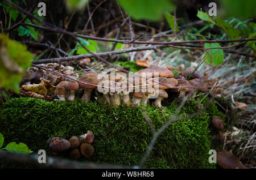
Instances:
[[[0,49],[2,47],[7,48],[5,54],[0,53],[0,87],[6,89],[13,89],[14,92],[19,93],[19,82],[25,74],[26,68],[31,66],[33,55],[27,51],[26,46],[9,40],[6,35],[0,35]],[[13,68],[6,66],[5,61],[14,64],[20,71],[13,71]]]

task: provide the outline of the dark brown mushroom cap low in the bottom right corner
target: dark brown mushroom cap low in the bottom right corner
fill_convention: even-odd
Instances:
[[[224,169],[246,169],[232,152],[226,150],[217,152],[217,164]]]

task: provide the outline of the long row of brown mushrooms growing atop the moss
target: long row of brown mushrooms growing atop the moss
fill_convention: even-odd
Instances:
[[[60,101],[75,100],[75,91],[84,89],[82,102],[89,102],[94,94],[104,98],[105,104],[115,107],[125,104],[137,106],[147,104],[150,99],[155,99],[153,105],[162,109],[162,101],[174,93],[177,97],[192,92],[208,92],[216,82],[205,82],[204,78],[195,68],[187,68],[179,75],[168,68],[150,66],[136,72],[133,76],[114,73],[105,76],[96,72],[85,72],[80,79],[63,81],[56,85],[55,94]],[[98,87],[104,91],[98,91]],[[96,91],[98,93],[92,93]],[[180,94],[180,95],[179,95]],[[97,97],[96,97],[97,99]]]

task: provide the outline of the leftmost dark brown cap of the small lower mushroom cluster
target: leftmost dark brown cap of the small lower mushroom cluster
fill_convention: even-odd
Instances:
[[[63,138],[51,138],[47,143],[49,143],[50,151],[55,153],[63,152],[70,147],[69,141]]]

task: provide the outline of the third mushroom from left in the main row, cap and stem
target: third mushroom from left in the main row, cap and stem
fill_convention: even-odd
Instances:
[[[98,79],[98,74],[96,72],[85,72],[79,80],[84,82],[79,83],[80,88],[84,88],[84,95],[82,95],[81,101],[87,103],[90,101],[90,95],[92,94],[93,89],[97,87],[100,79]]]

